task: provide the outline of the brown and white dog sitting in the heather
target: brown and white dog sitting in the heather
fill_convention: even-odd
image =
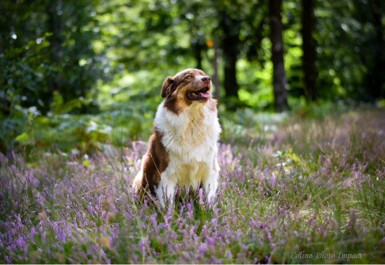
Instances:
[[[209,201],[218,187],[217,141],[221,132],[211,80],[199,69],[167,77],[149,148],[133,181],[140,195],[148,188],[165,206],[177,185],[204,188]]]

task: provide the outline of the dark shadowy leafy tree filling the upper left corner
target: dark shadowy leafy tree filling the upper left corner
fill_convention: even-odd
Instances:
[[[98,0],[2,3],[0,86],[5,93],[0,94],[0,109],[4,113],[21,106],[46,114],[54,91],[64,103],[87,96],[102,76],[102,52],[98,57],[91,46],[99,34],[94,19],[97,4]]]

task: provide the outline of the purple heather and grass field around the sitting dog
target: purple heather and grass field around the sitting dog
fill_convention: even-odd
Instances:
[[[307,114],[221,117],[211,205],[136,202],[142,141],[0,154],[0,263],[384,263],[385,110]]]

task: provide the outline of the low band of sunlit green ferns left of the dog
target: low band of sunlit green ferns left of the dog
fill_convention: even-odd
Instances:
[[[64,103],[55,92],[52,112],[43,116],[33,108],[21,109],[20,119],[7,119],[2,124],[12,134],[0,133],[0,137],[4,143],[10,141],[7,148],[58,148],[62,152],[88,153],[103,149],[105,144],[125,146],[129,140],[147,139],[151,133],[155,110],[140,101],[142,111],[138,111],[138,105],[114,104],[98,115],[68,114],[81,104],[88,101],[80,98]]]

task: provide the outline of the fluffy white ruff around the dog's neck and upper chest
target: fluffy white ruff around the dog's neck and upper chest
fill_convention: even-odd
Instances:
[[[162,144],[170,156],[186,164],[214,159],[221,128],[210,104],[215,103],[211,99],[206,104],[195,102],[179,114],[169,111],[164,101],[159,105],[155,129],[162,133]]]

